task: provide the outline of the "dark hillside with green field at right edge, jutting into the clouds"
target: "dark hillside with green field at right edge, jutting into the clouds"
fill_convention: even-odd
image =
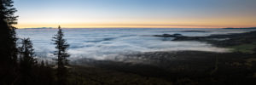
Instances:
[[[229,39],[218,41],[215,40],[216,38]],[[256,31],[240,34],[212,35],[208,37],[176,37],[174,41],[209,42],[217,47],[233,48],[233,52],[253,54],[253,49],[256,48]]]

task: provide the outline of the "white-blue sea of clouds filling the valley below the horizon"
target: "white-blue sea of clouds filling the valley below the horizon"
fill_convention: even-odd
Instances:
[[[183,31],[207,32],[183,32]],[[70,44],[70,59],[113,59],[125,54],[156,51],[198,50],[228,52],[227,48],[212,47],[206,42],[173,42],[172,37],[152,37],[164,33],[180,33],[184,36],[209,36],[212,34],[241,33],[224,29],[63,29],[65,39]],[[52,37],[57,29],[20,29],[19,38],[30,37],[38,57],[55,58],[56,50]]]

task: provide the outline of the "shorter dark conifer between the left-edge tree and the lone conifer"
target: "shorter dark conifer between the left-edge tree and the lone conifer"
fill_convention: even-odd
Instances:
[[[36,66],[34,48],[29,38],[24,38],[19,47],[20,58],[20,85],[32,85],[32,69]]]

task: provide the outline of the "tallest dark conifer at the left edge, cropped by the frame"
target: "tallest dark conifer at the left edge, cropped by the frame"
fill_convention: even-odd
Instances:
[[[12,0],[0,0],[0,84],[12,84],[17,75],[15,27],[18,16]]]

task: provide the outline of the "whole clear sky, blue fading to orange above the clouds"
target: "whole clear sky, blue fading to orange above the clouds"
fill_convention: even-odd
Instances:
[[[14,0],[18,28],[256,26],[256,0]]]

